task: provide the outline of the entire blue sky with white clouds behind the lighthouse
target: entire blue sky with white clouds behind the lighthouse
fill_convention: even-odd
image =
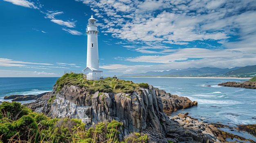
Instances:
[[[0,77],[83,70],[92,14],[105,77],[256,64],[255,0],[0,0]]]

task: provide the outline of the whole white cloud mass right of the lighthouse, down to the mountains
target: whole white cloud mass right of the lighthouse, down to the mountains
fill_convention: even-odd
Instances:
[[[142,53],[121,59],[144,62],[144,66],[101,66],[112,72],[255,64],[254,0],[76,1],[103,16],[104,35],[124,40],[117,44]]]

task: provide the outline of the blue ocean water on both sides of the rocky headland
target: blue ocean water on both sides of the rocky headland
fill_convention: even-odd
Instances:
[[[52,91],[57,79],[58,77],[0,78],[0,101],[7,101],[3,98],[9,95],[38,95]],[[198,106],[178,110],[171,116],[189,112],[189,116],[208,123],[222,123],[232,127],[240,124],[256,124],[256,90],[218,86],[219,83],[227,81],[243,82],[248,79],[168,77],[119,77],[119,79],[148,83],[171,94],[198,101]],[[245,133],[234,133],[246,136]],[[246,137],[256,141],[255,137],[249,135]]]

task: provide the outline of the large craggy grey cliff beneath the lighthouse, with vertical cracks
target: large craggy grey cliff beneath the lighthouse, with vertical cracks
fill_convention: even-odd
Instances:
[[[148,134],[150,143],[220,142],[212,128],[202,122],[182,119],[186,122],[182,123],[178,119],[169,119],[164,110],[171,112],[177,108],[191,107],[196,103],[153,86],[140,88],[132,94],[106,92],[92,94],[90,90],[72,85],[64,86],[61,92],[56,93],[56,88],[55,86],[53,92],[47,93],[27,106],[52,118],[81,119],[88,127],[115,119],[123,125],[120,137],[130,132],[143,132]],[[165,106],[163,101],[166,102]]]

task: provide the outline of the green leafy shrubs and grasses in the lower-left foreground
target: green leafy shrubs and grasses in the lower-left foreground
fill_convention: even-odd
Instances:
[[[80,119],[51,119],[18,102],[0,105],[0,143],[146,143],[148,136],[131,133],[122,141],[122,124],[112,120],[85,130]]]

